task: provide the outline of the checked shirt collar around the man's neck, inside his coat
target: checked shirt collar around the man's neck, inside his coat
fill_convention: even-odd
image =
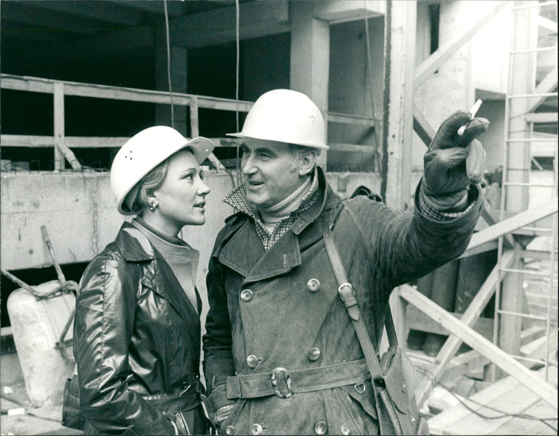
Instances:
[[[247,189],[245,187],[245,183],[242,183],[237,186],[237,188],[233,189],[231,193],[225,197],[224,202],[233,206],[235,209],[246,213],[254,220],[256,233],[260,237],[264,249],[268,251],[270,247],[273,246],[274,243],[291,228],[291,225],[295,223],[300,213],[309,209],[310,206],[317,201],[317,198],[320,196],[318,187],[319,182],[317,170],[315,168],[310,189],[303,197],[303,200],[301,200],[299,207],[295,211],[291,212],[287,218],[279,220],[279,222],[275,225],[272,234],[268,234],[268,232],[266,232],[266,227],[264,227],[264,223],[261,220],[258,208],[247,200]]]

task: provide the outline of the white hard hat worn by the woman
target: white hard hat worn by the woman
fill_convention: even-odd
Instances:
[[[117,208],[123,215],[131,211],[138,194],[136,184],[154,167],[173,153],[190,147],[198,163],[202,163],[214,149],[208,138],[187,140],[168,126],[154,126],[136,133],[119,149],[110,167],[110,188],[117,199]]]

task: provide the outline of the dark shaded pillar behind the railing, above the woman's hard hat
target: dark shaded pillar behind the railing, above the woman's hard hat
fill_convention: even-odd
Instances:
[[[155,89],[158,91],[169,90],[167,72],[167,39],[165,29],[155,31]],[[171,89],[173,92],[187,92],[187,49],[184,47],[170,46],[170,73]],[[180,133],[187,135],[187,108],[173,105],[174,126]],[[166,126],[171,123],[170,105],[156,105],[155,123]]]

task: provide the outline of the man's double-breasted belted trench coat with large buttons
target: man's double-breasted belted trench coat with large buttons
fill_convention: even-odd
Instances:
[[[234,404],[223,433],[376,434],[370,374],[359,367],[363,352],[337,294],[322,236],[324,217],[337,215],[333,236],[378,346],[393,288],[460,255],[483,202],[472,186],[472,209],[442,223],[363,195],[344,200],[340,210],[340,197],[321,171],[319,190],[319,200],[268,251],[242,212],[228,218],[217,236],[203,348],[210,400],[216,408]],[[308,368],[317,371],[298,386],[293,374]],[[231,378],[235,374],[255,376],[242,382]],[[329,387],[333,379],[336,386]]]

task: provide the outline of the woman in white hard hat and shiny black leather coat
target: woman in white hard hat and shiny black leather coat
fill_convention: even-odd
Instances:
[[[210,189],[200,163],[213,147],[155,126],[115,156],[118,211],[137,216],[80,281],[73,343],[85,434],[208,433],[198,377],[198,252],[177,234],[205,223]]]

